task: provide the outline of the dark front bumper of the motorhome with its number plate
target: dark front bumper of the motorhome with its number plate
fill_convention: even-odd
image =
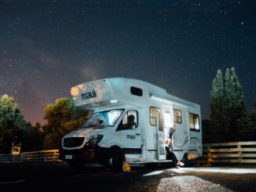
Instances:
[[[99,147],[98,145],[93,147],[85,146],[78,150],[66,150],[61,147],[60,160],[102,164],[107,157],[107,152],[108,148]],[[67,157],[69,158],[67,159]]]

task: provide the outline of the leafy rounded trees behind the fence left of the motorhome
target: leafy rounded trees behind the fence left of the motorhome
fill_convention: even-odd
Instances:
[[[88,112],[75,108],[68,98],[57,99],[44,109],[46,125],[35,126],[24,121],[13,97],[0,97],[0,154],[9,154],[12,144],[21,143],[21,150],[35,151],[58,149],[61,138],[68,132],[78,129]]]

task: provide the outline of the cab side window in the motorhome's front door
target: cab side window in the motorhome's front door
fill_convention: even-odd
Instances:
[[[136,110],[129,110],[123,117],[123,121],[119,124],[116,131],[135,129],[138,125],[138,115]]]

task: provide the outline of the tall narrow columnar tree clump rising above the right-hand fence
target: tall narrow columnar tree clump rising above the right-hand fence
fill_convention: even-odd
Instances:
[[[245,117],[243,87],[236,75],[235,67],[227,68],[225,78],[218,70],[213,81],[210,95],[210,118],[212,128],[219,136],[219,141],[240,139],[240,122]]]

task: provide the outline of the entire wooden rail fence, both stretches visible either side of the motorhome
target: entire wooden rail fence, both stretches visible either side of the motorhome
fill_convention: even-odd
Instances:
[[[21,154],[0,154],[1,162],[63,162],[59,150],[41,150]],[[256,163],[256,141],[203,144],[203,158],[196,163]]]

